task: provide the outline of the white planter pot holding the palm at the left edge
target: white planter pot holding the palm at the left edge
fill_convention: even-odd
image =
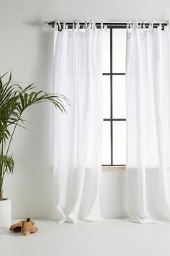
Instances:
[[[0,201],[0,228],[3,226],[9,226],[12,221],[12,207],[11,200],[4,198]]]

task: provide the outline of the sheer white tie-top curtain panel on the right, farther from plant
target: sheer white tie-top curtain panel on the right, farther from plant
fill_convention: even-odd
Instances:
[[[127,33],[127,170],[130,221],[170,221],[169,27]]]

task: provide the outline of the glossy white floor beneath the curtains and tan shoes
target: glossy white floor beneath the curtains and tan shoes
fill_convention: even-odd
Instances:
[[[12,220],[15,223],[17,220]],[[94,223],[36,220],[30,236],[0,229],[1,256],[169,256],[170,225],[139,224],[122,219]]]

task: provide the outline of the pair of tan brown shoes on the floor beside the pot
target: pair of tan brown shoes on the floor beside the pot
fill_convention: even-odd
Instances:
[[[34,221],[30,221],[30,218],[27,218],[26,221],[19,221],[18,223],[13,224],[9,230],[13,232],[22,232],[23,236],[27,236],[38,231],[37,226],[34,225]]]

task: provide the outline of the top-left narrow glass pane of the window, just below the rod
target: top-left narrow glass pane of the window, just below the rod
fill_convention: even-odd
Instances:
[[[110,38],[109,30],[103,35],[103,73],[110,72]]]

